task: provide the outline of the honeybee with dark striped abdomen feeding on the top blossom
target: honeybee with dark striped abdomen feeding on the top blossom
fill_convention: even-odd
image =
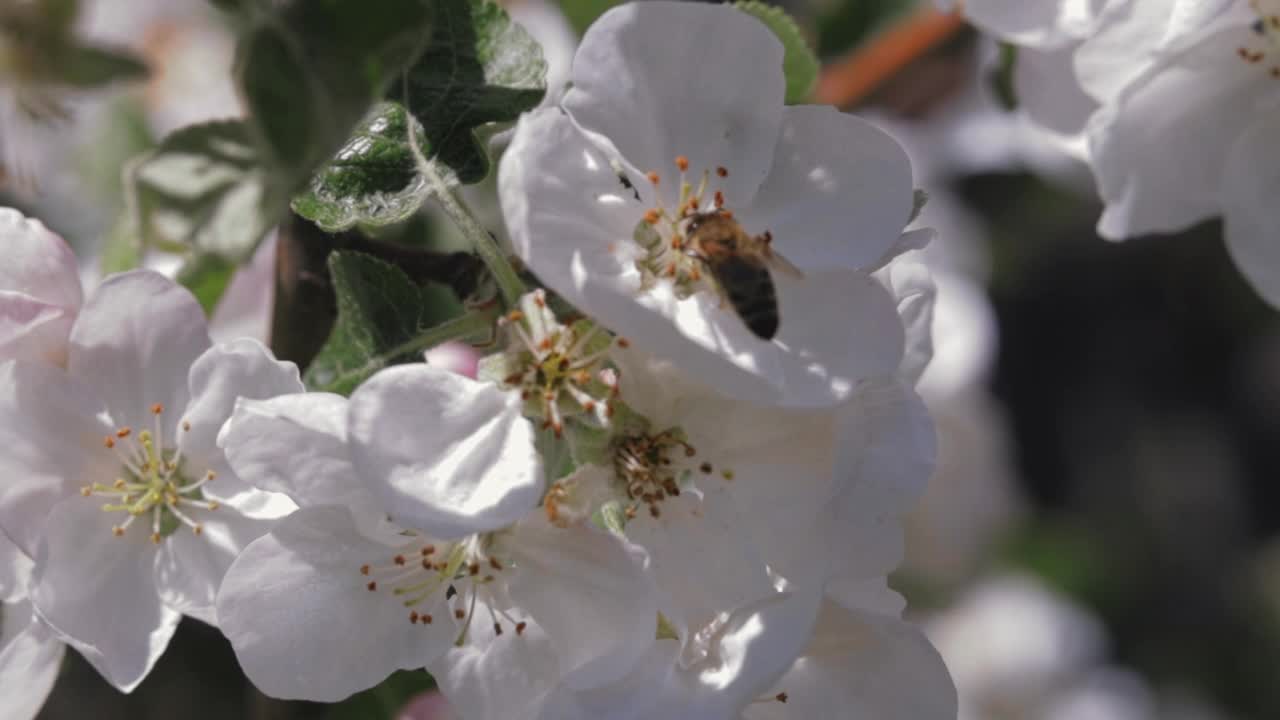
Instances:
[[[755,337],[773,340],[778,333],[778,296],[769,270],[794,278],[804,273],[773,250],[772,233],[750,236],[724,210],[696,213],[686,223],[685,252],[701,260]]]

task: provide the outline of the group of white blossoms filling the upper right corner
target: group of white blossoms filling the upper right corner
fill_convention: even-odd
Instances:
[[[950,1],[942,5],[952,5]],[[1085,140],[1120,240],[1221,215],[1240,270],[1280,305],[1275,0],[966,0],[1018,45],[1018,91],[1046,127]]]

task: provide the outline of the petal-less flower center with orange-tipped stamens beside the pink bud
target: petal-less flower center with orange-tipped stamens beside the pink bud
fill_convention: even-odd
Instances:
[[[614,342],[626,347],[625,340],[614,340],[586,319],[561,323],[543,290],[522,297],[520,310],[498,324],[509,333],[511,350],[493,356],[494,363],[502,364],[502,384],[518,389],[526,401],[526,415],[541,420],[557,437],[568,416],[589,415],[602,427],[609,424],[618,377],[605,360]]]

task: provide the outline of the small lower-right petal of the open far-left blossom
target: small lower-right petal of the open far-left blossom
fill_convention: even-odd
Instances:
[[[166,606],[216,625],[214,601],[227,569],[271,523],[232,509],[186,512],[201,524],[201,533],[183,525],[164,539],[156,553],[155,583]]]

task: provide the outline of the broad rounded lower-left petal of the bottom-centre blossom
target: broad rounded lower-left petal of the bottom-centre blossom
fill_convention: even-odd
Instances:
[[[449,623],[410,624],[398,597],[366,588],[361,565],[394,552],[340,507],[303,507],[244,548],[218,593],[218,621],[253,684],[337,702],[448,650]]]

